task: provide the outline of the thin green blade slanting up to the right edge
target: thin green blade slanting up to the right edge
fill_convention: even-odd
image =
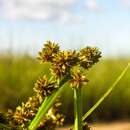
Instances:
[[[128,68],[130,67],[130,63],[126,66],[126,68],[122,71],[116,81],[108,88],[106,93],[96,102],[96,104],[82,117],[82,121],[84,121],[105,99],[106,97],[112,92],[115,86],[119,83],[119,81],[123,78],[126,74]]]

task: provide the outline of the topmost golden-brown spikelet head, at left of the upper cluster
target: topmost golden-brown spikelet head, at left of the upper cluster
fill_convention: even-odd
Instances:
[[[59,52],[59,46],[56,43],[53,43],[51,41],[47,41],[46,44],[44,44],[44,48],[41,52],[39,52],[38,59],[42,62],[52,62],[53,57],[55,54]]]

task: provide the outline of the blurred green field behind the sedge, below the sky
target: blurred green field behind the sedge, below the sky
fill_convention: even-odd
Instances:
[[[106,58],[88,71],[90,80],[83,87],[84,112],[101,97],[115,81],[129,58]],[[29,55],[0,55],[0,111],[14,109],[33,94],[33,85],[39,76],[47,74],[49,66],[40,64]],[[66,122],[73,121],[73,91],[67,88],[61,96],[62,112]],[[91,121],[130,119],[130,70],[109,97],[89,117]]]

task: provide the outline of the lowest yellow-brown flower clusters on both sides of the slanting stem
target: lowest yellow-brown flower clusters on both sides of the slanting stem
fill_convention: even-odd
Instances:
[[[27,130],[28,123],[34,118],[39,105],[40,99],[34,96],[30,97],[26,103],[22,103],[21,106],[18,106],[14,112],[9,110],[7,113],[7,117],[10,120],[9,126],[14,130]],[[64,116],[59,113],[60,106],[61,103],[57,101],[49,109],[48,113],[41,120],[37,130],[54,130],[57,126],[63,125]]]

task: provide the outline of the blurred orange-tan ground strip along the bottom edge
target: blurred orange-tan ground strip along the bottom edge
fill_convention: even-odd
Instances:
[[[130,122],[99,123],[91,126],[92,130],[130,130]],[[57,130],[69,130],[69,128]]]

